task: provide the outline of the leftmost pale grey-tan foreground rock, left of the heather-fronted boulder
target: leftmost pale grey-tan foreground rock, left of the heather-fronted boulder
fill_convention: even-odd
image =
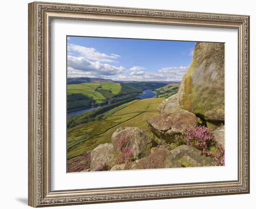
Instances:
[[[117,160],[116,154],[113,150],[113,145],[106,143],[100,144],[91,151],[91,170],[95,170],[101,164],[106,163],[109,168],[115,165]]]

